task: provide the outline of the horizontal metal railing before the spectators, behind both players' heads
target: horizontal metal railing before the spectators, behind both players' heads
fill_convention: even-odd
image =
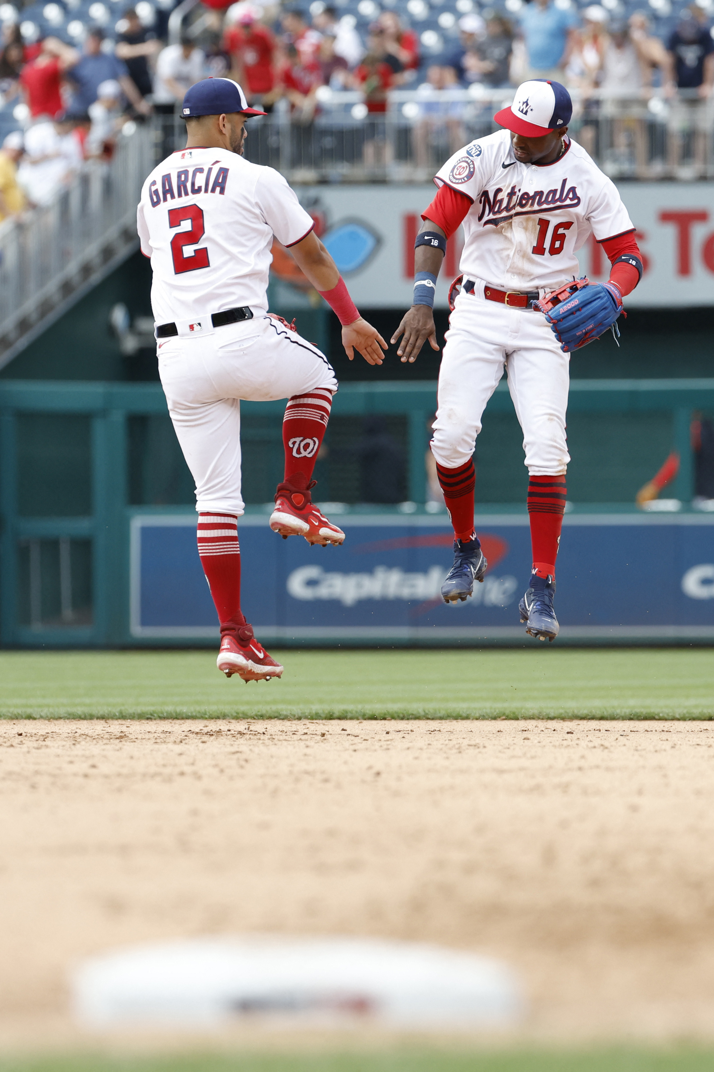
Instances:
[[[714,177],[714,100],[696,90],[674,99],[601,90],[574,91],[569,130],[611,178],[692,180]],[[395,90],[385,113],[369,113],[360,92],[318,90],[314,115],[278,102],[252,119],[246,159],[277,168],[291,182],[428,182],[461,146],[499,128],[493,114],[513,89]],[[185,124],[157,117],[165,147],[180,148]],[[167,150],[168,151],[168,150]]]

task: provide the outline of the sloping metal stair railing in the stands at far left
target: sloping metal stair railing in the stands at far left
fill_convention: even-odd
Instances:
[[[0,368],[137,245],[155,132],[125,130],[109,163],[87,164],[48,205],[0,224]]]

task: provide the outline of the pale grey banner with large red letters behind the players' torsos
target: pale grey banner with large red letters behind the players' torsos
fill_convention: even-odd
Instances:
[[[714,294],[714,183],[623,182],[620,194],[637,228],[644,276],[627,307],[709,306]],[[434,185],[320,185],[299,189],[322,241],[349,283],[358,307],[408,309],[414,238]],[[446,308],[458,276],[461,229],[447,244],[436,304]],[[592,238],[579,254],[580,271],[607,279],[609,262]],[[294,263],[275,259],[275,274],[294,282]],[[487,280],[487,282],[490,282]]]

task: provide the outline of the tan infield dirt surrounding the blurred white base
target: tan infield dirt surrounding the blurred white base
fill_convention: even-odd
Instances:
[[[0,723],[0,1045],[65,1045],[126,944],[497,956],[521,1038],[714,1038],[714,724]]]

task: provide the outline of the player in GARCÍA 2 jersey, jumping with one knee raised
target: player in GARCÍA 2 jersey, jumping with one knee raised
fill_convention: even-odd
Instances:
[[[248,107],[238,83],[197,83],[182,115],[186,147],[154,168],[137,209],[141,252],[153,270],[158,371],[196,481],[198,553],[221,622],[218,669],[245,682],[270,681],[283,667],[241,613],[240,399],[288,399],[285,478],[271,528],[323,546],[345,539],[310,498],[337,381],[316,346],[268,313],[273,236],[339,317],[350,360],[356,349],[381,364],[386,343],[354,308],[283,176],[243,159],[245,121],[264,113]]]

